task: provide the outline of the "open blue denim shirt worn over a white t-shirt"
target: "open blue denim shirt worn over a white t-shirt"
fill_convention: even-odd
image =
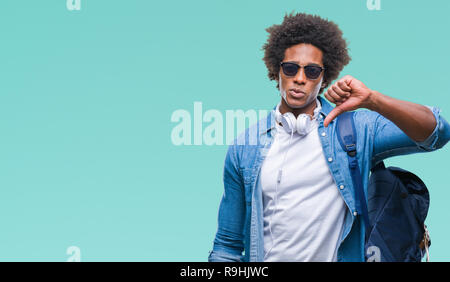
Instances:
[[[323,125],[333,107],[321,96],[318,99],[322,105],[318,131],[323,152],[336,189],[347,207],[337,259],[364,261],[364,224],[355,212],[354,187],[347,153],[342,150],[337,139],[336,119],[328,127]],[[422,142],[413,141],[393,122],[377,112],[355,112],[357,158],[365,195],[370,169],[377,162],[392,156],[434,151],[448,142],[449,123],[440,116],[438,107],[427,107],[436,118],[436,127]],[[272,145],[274,130],[275,117],[271,111],[265,118],[247,128],[228,147],[223,171],[224,193],[219,205],[213,249],[208,256],[210,262],[264,261],[263,201],[259,173]],[[298,160],[301,161],[301,156]]]

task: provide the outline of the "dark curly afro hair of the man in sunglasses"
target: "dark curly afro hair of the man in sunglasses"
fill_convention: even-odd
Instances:
[[[319,16],[305,13],[294,15],[294,12],[291,12],[284,16],[281,25],[272,25],[266,28],[266,31],[269,33],[269,38],[262,48],[263,61],[269,71],[269,79],[278,82],[278,89],[280,62],[284,59],[285,50],[293,45],[311,44],[322,51],[325,87],[338,77],[344,66],[351,60],[342,31],[334,22]],[[325,87],[322,87],[320,93]]]

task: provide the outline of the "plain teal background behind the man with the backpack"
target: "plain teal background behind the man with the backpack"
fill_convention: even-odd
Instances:
[[[350,74],[450,118],[450,2],[106,1],[0,4],[0,260],[206,261],[226,146],[174,146],[172,113],[270,110],[265,28],[335,21]],[[213,67],[213,71],[208,69]],[[395,157],[430,188],[432,261],[450,258],[450,150]]]

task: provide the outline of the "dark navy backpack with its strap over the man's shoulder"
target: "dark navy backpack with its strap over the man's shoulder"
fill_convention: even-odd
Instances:
[[[371,168],[367,203],[356,159],[354,112],[339,115],[338,139],[347,152],[355,188],[357,214],[366,227],[365,260],[420,262],[429,259],[430,237],[425,225],[430,196],[414,173],[398,167],[386,168],[381,161]]]

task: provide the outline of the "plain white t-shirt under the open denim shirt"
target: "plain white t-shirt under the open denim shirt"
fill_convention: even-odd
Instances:
[[[274,141],[260,173],[266,255],[272,247],[269,222],[274,239],[264,261],[336,261],[346,207],[323,154],[318,122],[314,123],[314,130],[306,136],[292,136],[274,212],[278,170],[291,137],[276,125]]]

